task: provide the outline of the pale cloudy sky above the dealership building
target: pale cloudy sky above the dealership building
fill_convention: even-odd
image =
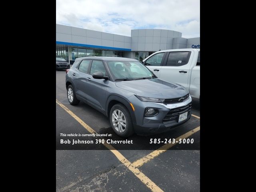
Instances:
[[[200,37],[200,0],[56,0],[56,24],[131,36],[167,29]]]

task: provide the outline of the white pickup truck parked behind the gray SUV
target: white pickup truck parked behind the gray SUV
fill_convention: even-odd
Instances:
[[[143,60],[156,76],[187,88],[200,99],[200,49],[172,49],[154,52]]]

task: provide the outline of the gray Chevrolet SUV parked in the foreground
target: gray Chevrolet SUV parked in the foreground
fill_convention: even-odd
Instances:
[[[82,101],[108,116],[121,137],[165,132],[191,117],[186,88],[160,80],[135,59],[77,58],[66,88],[71,105]]]

